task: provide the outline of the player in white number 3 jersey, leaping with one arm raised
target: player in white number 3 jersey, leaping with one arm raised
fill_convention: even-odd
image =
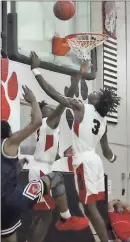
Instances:
[[[95,153],[100,141],[104,156],[110,161],[116,160],[107,140],[105,116],[120,104],[120,98],[112,90],[100,90],[88,96],[88,104],[67,98],[57,92],[40,75],[39,59],[33,53],[35,63],[33,73],[42,89],[54,100],[74,111],[72,130],[73,167],[77,177],[80,201],[86,215],[92,222],[101,242],[107,242],[107,230],[96,207],[96,201],[104,198],[104,172],[100,157]]]

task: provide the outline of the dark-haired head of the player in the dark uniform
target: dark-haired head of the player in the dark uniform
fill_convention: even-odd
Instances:
[[[1,120],[1,139],[7,139],[12,135],[11,127],[6,120]]]

